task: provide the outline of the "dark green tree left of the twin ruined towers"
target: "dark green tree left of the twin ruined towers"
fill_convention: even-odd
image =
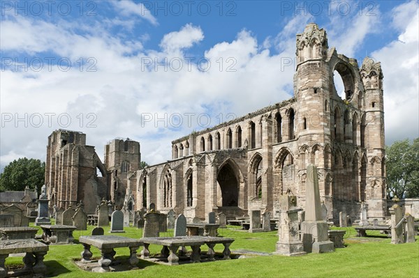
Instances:
[[[38,193],[44,184],[45,162],[27,157],[13,160],[0,174],[0,191],[23,191],[25,187],[33,190],[38,187]]]

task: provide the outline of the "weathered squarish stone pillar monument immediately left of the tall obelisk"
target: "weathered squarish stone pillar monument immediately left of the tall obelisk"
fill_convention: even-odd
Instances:
[[[297,208],[297,196],[288,194],[279,196],[279,222],[277,251],[274,254],[298,256],[307,254],[300,240],[298,213],[302,208]]]

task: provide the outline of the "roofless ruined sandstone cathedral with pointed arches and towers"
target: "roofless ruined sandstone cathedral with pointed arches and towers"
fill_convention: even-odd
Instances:
[[[325,30],[314,23],[297,34],[296,55],[293,98],[172,141],[168,162],[140,169],[140,144],[129,139],[110,141],[101,162],[85,134],[54,131],[45,170],[50,206],[82,201],[94,213],[104,198],[130,210],[155,203],[162,213],[173,209],[189,218],[249,210],[275,217],[286,192],[304,207],[306,169],[314,164],[328,219],[338,221],[340,211],[356,219],[362,202],[368,217],[385,217],[380,63],[367,57],[359,68],[329,49]]]

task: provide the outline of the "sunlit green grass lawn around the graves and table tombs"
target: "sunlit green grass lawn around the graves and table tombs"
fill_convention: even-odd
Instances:
[[[80,258],[83,250],[78,244],[80,235],[90,235],[94,226],[87,231],[73,233],[75,244],[50,245],[45,256],[47,277],[419,277],[419,236],[416,242],[392,245],[390,238],[378,232],[368,231],[367,238],[355,238],[355,229],[346,229],[346,248],[336,249],[328,254],[308,254],[305,256],[288,257],[279,255],[246,256],[229,261],[208,263],[186,263],[183,265],[160,265],[149,261],[138,263],[139,270],[124,272],[92,273],[80,270],[74,263]],[[104,227],[109,234],[109,227]],[[222,236],[235,238],[230,246],[232,253],[237,249],[272,253],[278,240],[277,232],[247,233],[233,229],[219,229]],[[339,229],[339,228],[338,228]],[[117,233],[129,238],[140,238],[141,230],[133,227],[125,228],[126,233]],[[41,231],[39,232],[41,233]],[[172,231],[161,233],[161,236],[172,236]],[[159,253],[161,246],[150,245],[150,252]],[[205,247],[202,247],[205,250]],[[215,251],[222,252],[223,246],[216,245]],[[138,249],[138,254],[140,254]],[[115,250],[116,258],[128,257],[128,248]],[[100,252],[91,247],[94,257]],[[22,265],[22,257],[9,257],[8,265]]]

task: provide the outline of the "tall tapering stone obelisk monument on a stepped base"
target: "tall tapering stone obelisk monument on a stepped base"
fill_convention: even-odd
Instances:
[[[301,229],[304,252],[335,251],[335,245],[329,240],[328,224],[322,218],[318,173],[313,164],[307,166],[305,220]]]

